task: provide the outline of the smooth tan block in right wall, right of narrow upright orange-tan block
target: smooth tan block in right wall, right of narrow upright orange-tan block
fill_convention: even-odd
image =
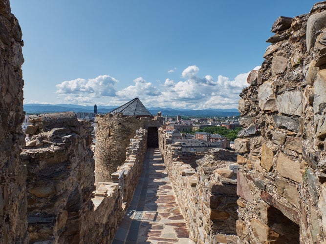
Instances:
[[[300,163],[290,160],[282,152],[280,152],[277,159],[276,169],[284,178],[288,178],[299,183],[302,182]]]

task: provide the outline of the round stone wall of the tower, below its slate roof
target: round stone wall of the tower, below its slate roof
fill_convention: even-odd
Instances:
[[[111,174],[126,160],[126,148],[130,138],[139,128],[160,127],[163,117],[124,117],[123,113],[96,116],[96,182],[108,182]]]

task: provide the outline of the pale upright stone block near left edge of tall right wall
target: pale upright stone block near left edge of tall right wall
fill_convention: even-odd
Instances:
[[[275,109],[276,96],[272,89],[272,82],[265,81],[258,88],[258,105],[261,110],[268,111]]]

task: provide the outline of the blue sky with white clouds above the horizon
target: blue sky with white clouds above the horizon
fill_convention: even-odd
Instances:
[[[237,108],[279,16],[314,0],[11,0],[24,103]]]

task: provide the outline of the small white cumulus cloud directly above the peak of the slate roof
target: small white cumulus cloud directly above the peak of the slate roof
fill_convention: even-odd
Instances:
[[[145,96],[158,96],[159,90],[151,82],[145,81],[142,77],[133,80],[135,85],[130,85],[116,94],[123,99],[133,99],[135,97],[144,98]]]

